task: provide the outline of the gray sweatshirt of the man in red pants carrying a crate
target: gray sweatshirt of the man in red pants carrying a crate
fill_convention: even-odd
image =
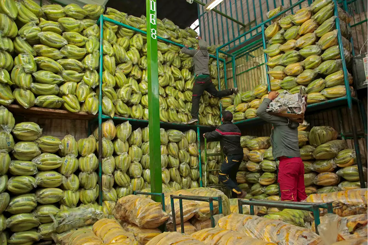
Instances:
[[[270,99],[263,99],[257,115],[268,123],[272,123],[271,146],[273,159],[278,157],[300,157],[298,143],[298,123],[285,117],[270,115],[266,112]]]

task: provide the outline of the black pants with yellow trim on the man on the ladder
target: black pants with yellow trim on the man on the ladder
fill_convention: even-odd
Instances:
[[[227,189],[230,189],[233,194],[240,194],[241,189],[236,182],[236,173],[238,172],[243,155],[230,155],[225,157],[221,164],[219,172],[219,181],[221,181]]]

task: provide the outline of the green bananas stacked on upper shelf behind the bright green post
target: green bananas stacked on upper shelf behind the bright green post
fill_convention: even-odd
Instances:
[[[146,19],[107,8],[105,17],[146,31]],[[168,19],[158,23],[158,35],[190,47],[198,46],[197,33],[190,28],[177,28]],[[146,36],[105,22],[103,31],[102,93],[104,114],[148,120],[148,64]],[[214,54],[216,47],[208,48]],[[180,52],[180,47],[158,42],[160,120],[186,123],[190,118],[194,83],[193,58]],[[218,85],[217,65],[210,59],[213,81]],[[224,84],[223,64],[220,78]],[[218,99],[202,96],[199,123],[218,125]]]

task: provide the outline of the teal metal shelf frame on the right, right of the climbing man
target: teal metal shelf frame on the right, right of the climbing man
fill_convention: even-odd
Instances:
[[[240,57],[240,56],[244,56],[244,55],[248,55],[252,49],[254,49],[254,47],[256,47],[257,45],[259,45],[259,43],[262,42],[262,46],[263,49],[266,49],[266,43],[268,42],[268,40],[265,37],[265,28],[266,28],[266,24],[270,23],[273,19],[280,17],[281,15],[283,15],[284,13],[286,13],[287,11],[291,10],[293,12],[293,8],[299,6],[299,8],[301,8],[301,4],[305,1],[308,1],[308,4],[311,3],[311,1],[309,0],[300,0],[297,1],[296,3],[292,4],[290,7],[285,8],[284,10],[282,10],[280,13],[276,14],[275,16],[273,16],[272,18],[266,19],[265,21],[259,23],[258,25],[254,26],[253,28],[250,28],[248,31],[244,32],[243,34],[237,36],[236,38],[234,38],[233,40],[230,40],[227,43],[224,43],[223,45],[220,45],[216,48],[216,57],[219,57],[219,53],[223,53],[226,54],[228,57],[230,57],[231,61],[227,62],[227,64],[231,63],[232,66],[232,70],[233,70],[233,86],[234,87],[238,87],[237,84],[237,75],[236,74],[236,58]],[[337,6],[338,6],[338,1],[337,0],[333,0],[333,3],[335,4],[335,16],[338,16],[338,11],[337,11]],[[342,8],[347,11],[347,1],[346,0],[339,0],[339,4],[342,6]],[[336,18],[335,21],[336,24],[336,29],[338,32],[337,35],[337,40],[338,40],[338,44],[339,44],[339,49],[340,49],[340,56],[344,57],[344,51],[343,51],[343,43],[342,43],[342,35],[341,35],[341,30],[340,30],[340,19]],[[259,29],[261,29],[261,35],[258,35],[259,33]],[[252,34],[252,32],[257,32],[257,35],[254,36]],[[251,38],[247,39],[247,35],[251,35]],[[257,37],[257,38],[255,38]],[[240,42],[240,40],[245,39],[243,42]],[[353,43],[353,39],[350,37],[350,42],[351,45]],[[236,43],[238,43],[238,45],[235,45]],[[233,45],[230,45],[233,44]],[[223,49],[228,46],[231,46],[231,49],[224,51]],[[352,51],[352,54],[354,55],[354,49]],[[264,53],[264,58],[265,61],[262,65],[265,65],[265,63],[267,63],[268,61],[268,56],[266,53]],[[219,72],[219,58],[217,58],[217,71]],[[354,116],[353,116],[353,104],[357,104],[358,107],[358,111],[360,114],[360,120],[362,122],[362,125],[364,127],[364,137],[365,137],[365,142],[366,145],[368,147],[368,122],[367,122],[367,116],[365,114],[365,110],[364,110],[364,106],[362,104],[362,102],[360,100],[358,100],[357,98],[354,98],[351,95],[351,89],[349,86],[349,81],[348,81],[348,72],[347,72],[347,65],[346,65],[346,61],[345,59],[342,59],[342,68],[343,68],[343,73],[344,73],[344,85],[346,88],[346,96],[343,97],[339,97],[339,98],[335,98],[335,99],[330,99],[330,100],[326,100],[324,102],[320,102],[320,103],[315,103],[315,104],[309,104],[307,106],[307,113],[312,113],[312,112],[316,112],[316,111],[322,111],[322,110],[328,110],[328,109],[334,109],[336,107],[347,107],[348,108],[348,116],[349,116],[349,124],[351,126],[353,126],[355,124],[354,122]],[[266,72],[268,72],[268,66],[265,65],[265,70]],[[226,71],[226,69],[225,69]],[[270,85],[270,76],[267,75],[267,84],[268,84],[268,90],[270,91],[271,89],[271,85]],[[220,84],[220,78],[218,78],[219,80],[219,84]],[[227,83],[227,78],[225,75],[225,82]],[[234,124],[237,124],[238,126],[245,126],[245,125],[250,125],[250,124],[256,124],[256,123],[261,123],[262,119],[259,117],[255,117],[255,118],[250,118],[250,119],[246,119],[246,120],[242,120],[242,121],[237,121]],[[355,148],[355,152],[357,155],[357,165],[358,165],[358,171],[359,171],[359,178],[360,178],[360,184],[361,184],[361,188],[365,188],[365,182],[364,182],[364,174],[363,174],[363,167],[362,167],[362,160],[361,160],[361,154],[360,154],[360,148],[359,148],[359,143],[358,143],[358,135],[357,135],[357,129],[356,127],[351,127],[352,128],[352,134],[353,137],[352,139],[354,140],[354,148]]]

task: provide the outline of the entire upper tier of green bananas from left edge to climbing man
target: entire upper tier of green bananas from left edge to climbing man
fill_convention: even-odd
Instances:
[[[87,4],[38,6],[32,0],[6,0],[1,5],[0,104],[13,102],[29,108],[98,112],[99,37],[96,20],[105,7]],[[146,18],[107,8],[105,16],[146,31]],[[16,20],[16,21],[15,21]],[[182,45],[198,46],[197,33],[164,19],[158,35]],[[103,113],[148,119],[146,36],[104,22]],[[158,43],[160,119],[186,123],[190,119],[194,83],[193,58],[180,47]],[[210,53],[216,46],[208,47]],[[11,54],[15,53],[13,59]],[[224,58],[221,56],[221,58]],[[218,85],[217,63],[210,58],[210,75]],[[9,74],[11,73],[11,74]],[[224,86],[223,64],[220,74]],[[201,124],[219,125],[218,99],[202,96]]]

